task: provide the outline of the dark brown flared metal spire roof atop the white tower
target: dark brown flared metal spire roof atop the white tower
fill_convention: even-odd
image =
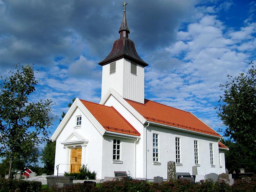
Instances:
[[[121,27],[119,28],[119,33],[120,38],[114,42],[111,52],[103,61],[99,63],[99,65],[103,66],[112,61],[125,58],[139,65],[142,65],[143,67],[148,66],[148,64],[138,55],[134,42],[128,38],[130,30],[127,25],[125,10],[123,21]]]

